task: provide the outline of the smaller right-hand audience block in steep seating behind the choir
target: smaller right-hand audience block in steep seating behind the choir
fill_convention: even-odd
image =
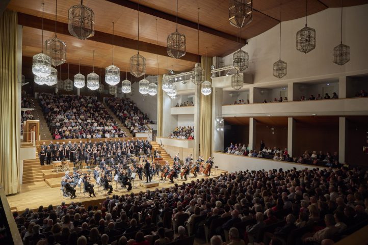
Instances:
[[[128,98],[106,98],[106,103],[131,133],[148,132],[144,124],[151,123],[137,105]]]

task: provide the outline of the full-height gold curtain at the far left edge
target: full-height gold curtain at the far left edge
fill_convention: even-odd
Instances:
[[[18,144],[20,121],[17,90],[17,13],[6,10],[0,16],[0,184],[5,194],[20,190]]]

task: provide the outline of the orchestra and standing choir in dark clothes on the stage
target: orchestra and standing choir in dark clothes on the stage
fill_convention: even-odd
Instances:
[[[194,161],[191,154],[180,165],[179,154],[176,154],[172,166],[168,161],[162,166],[159,161],[149,162],[147,160],[150,157],[153,158],[151,149],[152,146],[146,140],[110,140],[110,142],[105,140],[104,142],[81,142],[80,144],[69,142],[61,145],[57,142],[55,145],[45,145],[44,149],[41,149],[40,159],[42,158],[41,164],[44,164],[47,156],[57,161],[69,159],[74,162],[74,165],[77,161],[82,160],[86,162],[86,165],[88,165],[88,162],[95,163],[94,168],[87,171],[87,173],[77,171],[76,168],[74,168],[73,173],[66,172],[62,179],[62,186],[72,197],[75,197],[74,188],[80,179],[83,180],[85,192],[89,193],[89,197],[96,196],[93,189],[94,185],[90,183],[90,175],[95,180],[100,177],[100,184],[104,189],[108,189],[108,195],[113,192],[111,181],[116,175],[117,184],[126,187],[128,191],[132,190],[132,173],[137,173],[139,181],[142,181],[143,175],[145,175],[147,183],[151,182],[155,175],[161,175],[161,180],[166,181],[168,179],[170,183],[174,183],[174,179],[179,177],[188,180],[188,177],[197,178],[198,174],[211,176],[211,169],[214,164],[212,157],[208,157],[204,161],[202,156],[199,156]],[[154,153],[160,156],[156,150]]]

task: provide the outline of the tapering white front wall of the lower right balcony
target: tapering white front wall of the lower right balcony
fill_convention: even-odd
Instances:
[[[228,172],[235,172],[240,170],[262,170],[265,171],[272,169],[280,169],[288,170],[297,168],[297,170],[303,170],[305,168],[315,168],[315,166],[303,165],[303,164],[294,164],[292,162],[284,162],[284,161],[274,161],[257,157],[248,157],[248,156],[237,156],[233,154],[226,154],[220,152],[213,152],[214,166],[219,166],[219,169],[226,170]],[[321,167],[320,167],[321,168]]]

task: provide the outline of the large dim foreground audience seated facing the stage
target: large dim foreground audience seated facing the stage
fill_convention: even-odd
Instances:
[[[14,212],[14,218],[26,245],[42,239],[77,245],[191,245],[193,237],[212,245],[244,244],[241,240],[321,244],[368,225],[367,180],[359,168],[246,170],[108,196],[101,206],[41,206],[37,212]]]

